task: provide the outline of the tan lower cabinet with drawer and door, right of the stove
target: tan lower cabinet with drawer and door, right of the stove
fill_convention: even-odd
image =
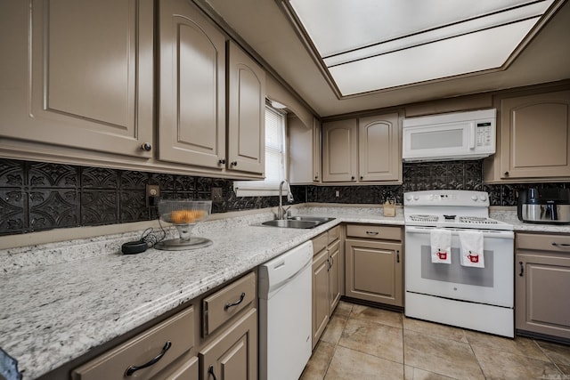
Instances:
[[[570,236],[518,233],[515,327],[570,339]]]

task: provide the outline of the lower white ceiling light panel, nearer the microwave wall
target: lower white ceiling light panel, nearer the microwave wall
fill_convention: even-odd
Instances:
[[[423,44],[329,70],[340,92],[351,95],[496,68],[509,57],[534,21]]]

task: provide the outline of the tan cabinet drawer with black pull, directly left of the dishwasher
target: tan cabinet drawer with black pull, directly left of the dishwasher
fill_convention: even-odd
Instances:
[[[217,327],[248,307],[256,298],[256,274],[232,282],[202,301],[204,336],[212,334]]]

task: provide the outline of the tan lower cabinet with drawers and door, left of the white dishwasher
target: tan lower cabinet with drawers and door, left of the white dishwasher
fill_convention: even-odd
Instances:
[[[251,271],[192,300],[183,311],[73,369],[72,380],[255,380],[256,283]]]

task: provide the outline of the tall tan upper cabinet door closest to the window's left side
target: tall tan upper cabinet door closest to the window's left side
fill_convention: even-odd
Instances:
[[[228,42],[228,168],[265,173],[265,71]]]

